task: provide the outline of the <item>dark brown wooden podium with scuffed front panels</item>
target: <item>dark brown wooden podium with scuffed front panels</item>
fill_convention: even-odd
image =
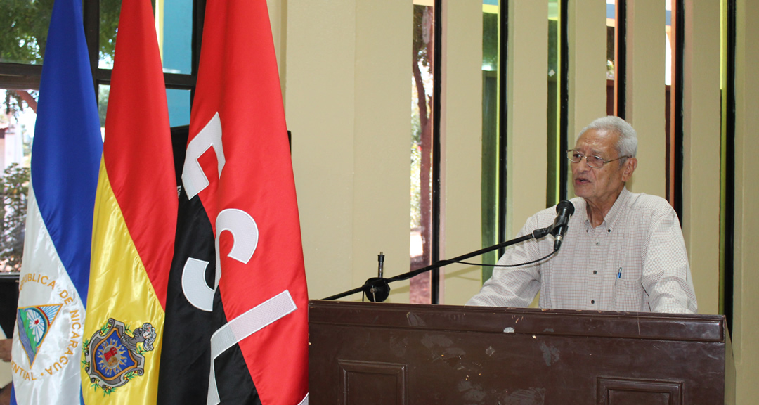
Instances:
[[[309,302],[309,401],[723,403],[721,315]]]

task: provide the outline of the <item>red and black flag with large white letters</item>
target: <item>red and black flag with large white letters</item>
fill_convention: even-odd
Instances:
[[[206,2],[181,179],[159,403],[307,403],[307,288],[266,0]]]

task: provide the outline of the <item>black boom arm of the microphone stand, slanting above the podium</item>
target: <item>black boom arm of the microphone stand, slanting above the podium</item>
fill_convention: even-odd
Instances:
[[[383,264],[385,255],[380,253],[379,254],[380,265],[379,265],[379,274],[378,274],[379,277],[372,277],[369,280],[367,280],[367,282],[364,283],[363,286],[354,288],[353,290],[345,291],[343,293],[335,294],[334,296],[328,296],[325,299],[326,300],[339,299],[344,296],[350,296],[355,293],[364,292],[367,296],[367,299],[369,299],[371,302],[383,302],[390,295],[390,286],[388,284],[392,283],[393,281],[408,280],[411,277],[416,276],[417,274],[422,274],[426,271],[440,268],[448,264],[458,263],[458,261],[463,261],[468,258],[473,258],[474,256],[479,256],[479,255],[482,255],[483,253],[492,252],[499,248],[505,248],[506,246],[515,245],[516,243],[524,242],[530,239],[540,239],[543,236],[546,236],[549,233],[551,233],[551,230],[552,230],[551,228],[552,227],[549,226],[547,228],[535,229],[532,233],[528,233],[527,235],[520,236],[518,238],[508,240],[506,242],[501,242],[497,245],[493,245],[487,248],[482,248],[476,252],[467,253],[465,255],[457,256],[455,258],[451,258],[448,260],[437,261],[436,263],[430,264],[427,267],[422,267],[420,269],[409,271],[408,273],[404,273],[404,274],[398,274],[395,277],[389,277],[389,278],[382,277],[382,264]]]

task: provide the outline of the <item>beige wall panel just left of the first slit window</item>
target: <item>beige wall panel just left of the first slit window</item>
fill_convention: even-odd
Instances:
[[[354,286],[376,277],[380,251],[389,275],[408,271],[413,14],[410,2],[390,3],[356,1]],[[392,301],[408,300],[394,287]]]

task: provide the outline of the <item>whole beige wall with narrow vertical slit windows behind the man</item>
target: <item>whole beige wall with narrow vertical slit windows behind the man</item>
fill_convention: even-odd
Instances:
[[[570,2],[570,145],[605,114],[603,2]],[[598,3],[598,4],[596,4]],[[283,75],[313,299],[349,290],[376,272],[408,271],[408,135],[411,0],[269,0]],[[759,394],[759,276],[751,242],[759,226],[759,5],[739,0],[736,87],[735,324],[737,403]],[[751,5],[748,5],[751,4]],[[480,246],[481,14],[479,2],[444,1],[442,256]],[[683,233],[699,312],[719,305],[719,2],[687,0],[683,128]],[[626,115],[638,130],[640,164],[630,188],[663,196],[664,0],[628,0]],[[546,2],[509,2],[508,232],[545,206]],[[537,169],[536,169],[537,168]],[[461,304],[479,271],[451,267],[442,301]],[[408,283],[391,301],[408,301]],[[348,299],[360,299],[351,296]]]

